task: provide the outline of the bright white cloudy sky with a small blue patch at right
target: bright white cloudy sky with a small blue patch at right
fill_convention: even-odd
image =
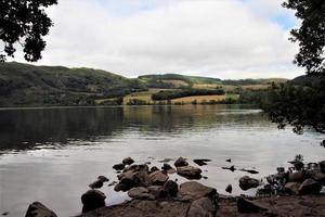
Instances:
[[[283,0],[58,0],[40,65],[136,77],[292,78],[298,25]],[[16,54],[22,61],[22,54]]]

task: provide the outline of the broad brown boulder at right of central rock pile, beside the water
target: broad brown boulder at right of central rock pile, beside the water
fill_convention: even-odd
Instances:
[[[193,200],[197,200],[204,196],[213,197],[217,195],[217,190],[196,181],[187,181],[180,186],[179,193],[182,196],[188,196]]]

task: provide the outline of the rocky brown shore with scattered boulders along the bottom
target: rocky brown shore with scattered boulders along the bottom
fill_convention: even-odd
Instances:
[[[147,164],[134,164],[131,157],[113,166],[118,182],[110,182],[115,191],[127,192],[132,199],[125,203],[105,206],[105,195],[100,191],[108,178],[99,176],[81,195],[83,204],[79,217],[144,216],[144,217],[212,217],[212,216],[325,216],[325,162],[304,164],[297,155],[289,163],[291,167],[277,168],[277,173],[265,177],[265,181],[244,176],[238,186],[246,191],[258,188],[257,195],[226,196],[216,189],[204,186],[195,179],[202,178],[203,165],[211,159],[179,157],[173,165],[167,163],[159,169]],[[231,163],[231,159],[226,159]],[[168,162],[168,161],[166,161]],[[235,170],[235,166],[229,168]],[[246,170],[257,174],[256,170]],[[187,181],[178,183],[170,174],[178,174]],[[225,187],[232,193],[232,186]],[[39,202],[32,203],[26,217],[56,217],[55,213]]]

